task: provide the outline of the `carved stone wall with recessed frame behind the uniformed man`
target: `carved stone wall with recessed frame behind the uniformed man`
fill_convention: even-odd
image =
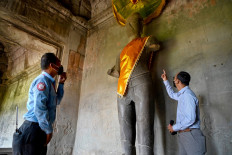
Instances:
[[[4,28],[0,29],[0,42],[9,45],[6,53],[12,58],[7,71],[12,74],[5,85],[0,85],[1,95],[2,90],[6,90],[3,103],[0,103],[0,148],[11,147],[15,106],[19,106],[21,125],[29,86],[41,73],[41,55],[49,51],[61,58],[68,79],[64,86],[64,98],[57,107],[57,120],[48,154],[71,154],[76,132],[87,21],[73,16],[54,0],[2,0],[0,25],[4,24],[14,28],[14,31],[7,33]],[[20,49],[17,47],[23,50],[16,50]]]

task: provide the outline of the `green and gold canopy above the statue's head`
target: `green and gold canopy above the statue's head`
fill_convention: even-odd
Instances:
[[[125,26],[126,19],[138,12],[144,19],[144,24],[158,17],[165,5],[165,0],[112,0],[113,13],[117,22]]]

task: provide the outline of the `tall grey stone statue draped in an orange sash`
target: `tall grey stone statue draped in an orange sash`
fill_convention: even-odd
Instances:
[[[154,99],[149,65],[152,52],[159,50],[160,46],[153,44],[149,37],[141,37],[143,19],[139,13],[128,17],[126,30],[131,42],[107,72],[119,78],[117,104],[121,143],[125,155],[135,155],[137,135],[139,154],[152,155]]]

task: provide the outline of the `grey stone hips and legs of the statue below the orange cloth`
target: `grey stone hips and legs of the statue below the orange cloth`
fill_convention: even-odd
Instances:
[[[117,99],[121,143],[125,155],[136,154],[135,139],[138,140],[139,155],[153,155],[152,87],[150,74],[132,78],[127,94]]]

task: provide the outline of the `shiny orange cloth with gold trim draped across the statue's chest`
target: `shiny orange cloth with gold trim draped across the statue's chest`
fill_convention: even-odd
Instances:
[[[139,61],[149,37],[135,38],[124,47],[120,54],[120,76],[118,79],[118,95],[124,96],[130,76]]]

